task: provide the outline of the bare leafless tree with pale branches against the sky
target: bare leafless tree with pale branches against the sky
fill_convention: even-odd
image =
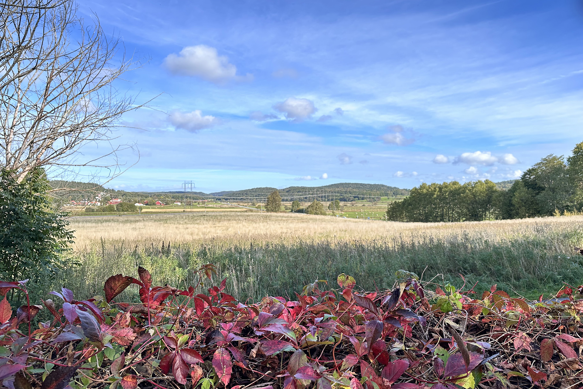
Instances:
[[[19,182],[36,167],[120,172],[123,146],[92,160],[79,160],[78,151],[113,144],[121,115],[140,107],[114,85],[139,64],[97,18],[88,26],[76,11],[72,0],[0,2],[0,167]],[[114,162],[102,162],[107,156]]]

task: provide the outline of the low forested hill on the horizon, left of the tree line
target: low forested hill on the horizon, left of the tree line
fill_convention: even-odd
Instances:
[[[222,199],[245,199],[245,198],[265,198],[276,188],[263,187],[252,188],[241,191],[215,192],[217,198]],[[339,199],[340,201],[354,201],[357,199],[367,199],[370,197],[397,197],[409,195],[409,190],[396,187],[389,187],[382,184],[360,184],[360,183],[339,183],[325,185],[321,187],[288,187],[279,189],[279,195],[283,201],[310,201],[311,199]]]

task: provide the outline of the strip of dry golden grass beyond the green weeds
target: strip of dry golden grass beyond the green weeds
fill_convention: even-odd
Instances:
[[[387,239],[392,236],[446,237],[470,234],[498,241],[531,236],[535,229],[558,229],[583,222],[583,216],[462,223],[399,223],[296,213],[220,213],[129,215],[71,218],[76,247],[95,241],[188,243],[207,239],[283,242],[296,239]]]

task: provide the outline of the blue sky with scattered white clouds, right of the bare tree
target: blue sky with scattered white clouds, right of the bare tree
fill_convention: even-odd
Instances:
[[[575,0],[93,0],[79,11],[149,59],[117,87],[157,96],[123,118],[116,141],[140,158],[110,187],[502,181],[583,141]]]

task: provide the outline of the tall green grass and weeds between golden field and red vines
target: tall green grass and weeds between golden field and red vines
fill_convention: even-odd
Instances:
[[[142,265],[154,282],[185,288],[195,280],[193,269],[213,263],[227,290],[238,299],[294,296],[303,285],[325,279],[335,286],[346,273],[367,290],[391,288],[399,269],[423,275],[434,282],[461,286],[459,274],[476,291],[512,289],[529,298],[561,288],[563,282],[583,283],[583,256],[571,255],[583,242],[583,223],[561,226],[533,225],[525,232],[507,233],[501,239],[458,230],[442,236],[423,230],[380,239],[343,240],[335,237],[281,241],[212,238],[164,247],[141,242],[101,241],[76,253],[81,267],[66,272],[64,282],[80,297],[103,293],[103,282],[113,274],[136,275]],[[128,292],[136,293],[136,291]],[[127,296],[131,297],[131,296]]]

